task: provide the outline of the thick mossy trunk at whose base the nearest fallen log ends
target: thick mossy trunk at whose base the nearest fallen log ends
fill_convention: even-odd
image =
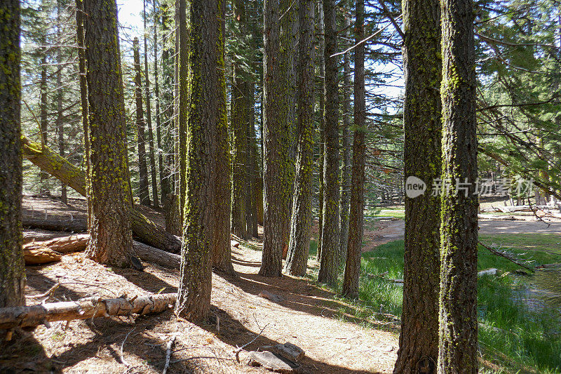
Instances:
[[[181,0],[183,1],[183,0]],[[222,59],[223,9],[219,0],[192,0],[189,7],[189,76],[187,103],[187,149],[184,189],[184,227],[180,286],[175,314],[189,321],[205,321],[210,312],[212,280],[212,234],[215,232],[215,175],[213,156],[217,125],[225,126],[222,109],[222,84],[219,73]],[[184,15],[180,15],[183,18]],[[180,33],[181,37],[184,34]],[[224,98],[225,100],[225,98]],[[209,208],[210,207],[210,208]]]

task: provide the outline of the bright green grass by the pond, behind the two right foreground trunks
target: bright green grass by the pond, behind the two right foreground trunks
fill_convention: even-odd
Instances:
[[[559,238],[555,234],[501,234],[482,235],[480,239],[488,245],[500,244],[502,250],[537,266],[561,262]],[[360,300],[341,299],[349,304],[341,315],[352,314],[377,328],[391,323],[384,314],[400,316],[403,288],[388,279],[403,279],[403,254],[403,240],[363,253]],[[530,292],[531,277],[516,276],[513,272],[521,269],[518,265],[480,246],[478,271],[489,268],[499,269],[499,275],[478,278],[481,358],[489,364],[482,370],[496,373],[492,366],[499,366],[504,373],[561,373],[561,305],[552,307],[538,301]],[[534,300],[531,304],[536,307],[527,300]]]

